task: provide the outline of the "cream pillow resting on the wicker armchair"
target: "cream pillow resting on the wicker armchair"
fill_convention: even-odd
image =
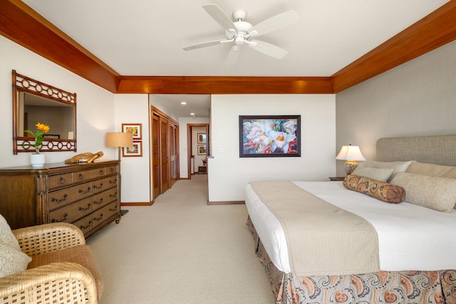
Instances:
[[[3,216],[0,215],[0,278],[25,271],[31,257],[21,251],[21,246]]]

